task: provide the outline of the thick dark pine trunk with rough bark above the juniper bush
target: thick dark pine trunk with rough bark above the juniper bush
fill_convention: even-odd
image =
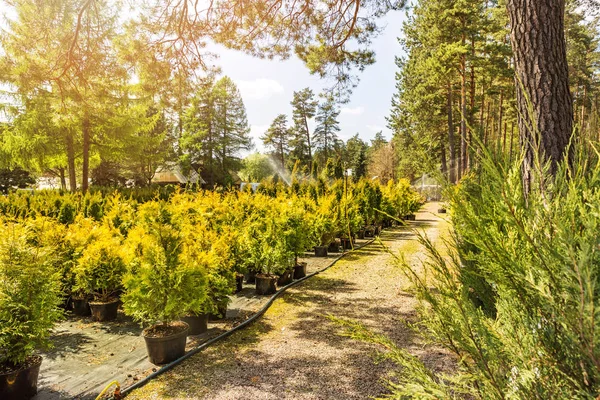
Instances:
[[[525,151],[523,189],[529,193],[536,156],[550,162],[552,175],[565,155],[569,163],[573,159],[573,146],[568,147],[573,103],[564,32],[565,0],[508,0],[506,8],[515,62],[519,135]]]

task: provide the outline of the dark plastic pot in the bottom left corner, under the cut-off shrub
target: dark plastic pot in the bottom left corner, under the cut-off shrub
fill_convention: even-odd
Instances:
[[[27,368],[0,374],[0,399],[29,400],[37,394],[42,357],[33,356],[28,362]]]

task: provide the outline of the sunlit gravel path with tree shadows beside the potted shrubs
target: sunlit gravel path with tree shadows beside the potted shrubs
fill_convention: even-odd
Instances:
[[[447,234],[437,204],[414,226],[433,240]],[[424,257],[406,229],[384,231],[382,242],[415,265]],[[376,364],[376,349],[339,335],[327,314],[362,321],[403,348],[445,368],[448,357],[424,347],[404,322],[416,300],[393,257],[373,243],[290,289],[251,327],[190,358],[128,399],[366,399],[387,392],[394,366]]]

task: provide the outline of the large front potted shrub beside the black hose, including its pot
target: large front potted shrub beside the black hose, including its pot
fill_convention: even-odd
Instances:
[[[197,262],[201,250],[171,221],[166,205],[146,203],[139,215],[127,237],[123,311],[149,325],[142,332],[148,358],[165,364],[185,354],[189,326],[180,319],[203,311],[206,270]]]

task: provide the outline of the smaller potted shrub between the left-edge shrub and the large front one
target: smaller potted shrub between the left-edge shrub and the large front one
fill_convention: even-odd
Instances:
[[[113,321],[117,318],[122,276],[125,261],[121,255],[121,238],[106,226],[83,250],[75,266],[75,287],[89,301],[92,318],[96,321]]]

